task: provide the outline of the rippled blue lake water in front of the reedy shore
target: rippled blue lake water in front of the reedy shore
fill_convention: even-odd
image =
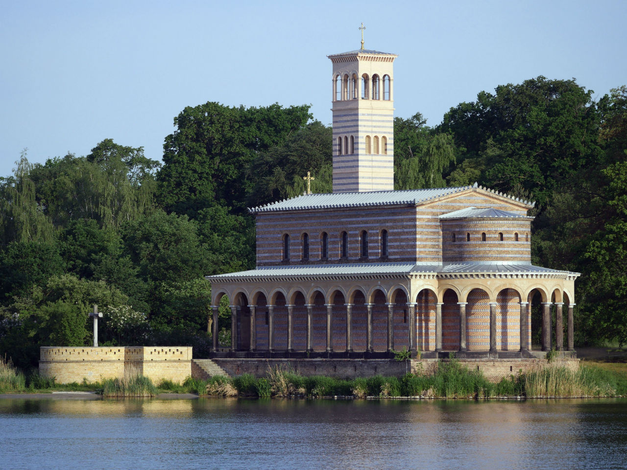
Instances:
[[[0,399],[1,469],[626,469],[627,400]]]

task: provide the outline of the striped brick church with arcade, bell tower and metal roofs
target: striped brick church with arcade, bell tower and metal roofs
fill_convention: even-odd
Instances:
[[[216,357],[529,358],[534,298],[542,350],[573,349],[579,273],[531,264],[531,202],[476,183],[394,191],[396,58],[363,38],[329,56],[333,192],[250,209],[256,268],[207,277]]]

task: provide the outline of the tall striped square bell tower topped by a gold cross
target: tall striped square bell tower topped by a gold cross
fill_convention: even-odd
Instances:
[[[393,191],[393,62],[398,56],[364,49],[362,36],[361,49],[328,57],[333,63],[333,192]]]

